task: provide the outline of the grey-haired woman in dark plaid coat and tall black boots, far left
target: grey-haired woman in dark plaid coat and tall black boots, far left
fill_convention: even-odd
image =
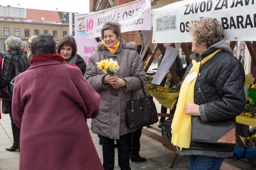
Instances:
[[[22,73],[26,71],[29,67],[29,61],[27,55],[23,53],[20,49],[22,41],[18,37],[8,37],[5,41],[5,53],[4,53],[4,63],[0,79],[1,94],[2,90],[10,88],[8,85],[15,75],[15,65],[18,67],[19,71]],[[15,63],[14,63],[15,60]],[[7,87],[6,87],[7,86]],[[10,89],[12,90],[12,89]],[[2,97],[4,97],[2,95]],[[11,118],[12,126],[12,136],[13,145],[10,148],[6,148],[7,151],[20,150],[20,128],[16,126],[12,118],[12,99],[2,98],[2,112],[3,114],[9,114]]]

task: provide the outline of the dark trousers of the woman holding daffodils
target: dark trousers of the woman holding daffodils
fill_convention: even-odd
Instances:
[[[113,170],[115,166],[115,139],[102,136],[103,145],[103,168],[104,170]],[[118,166],[121,170],[131,170],[129,155],[130,155],[130,133],[122,135],[116,139],[118,151]]]

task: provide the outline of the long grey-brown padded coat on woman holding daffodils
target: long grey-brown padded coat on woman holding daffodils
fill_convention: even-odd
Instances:
[[[95,45],[95,51],[90,56],[84,75],[92,88],[101,96],[100,113],[98,117],[92,119],[93,133],[119,139],[119,136],[136,130],[128,129],[125,122],[126,102],[131,99],[131,91],[136,97],[137,90],[141,89],[140,80],[137,77],[140,77],[144,84],[146,81],[144,63],[136,49],[135,42],[126,44],[124,40],[120,41],[115,54],[109,52],[101,42]],[[116,71],[116,76],[126,81],[126,87],[122,87],[120,90],[102,82],[106,73],[99,70],[96,63],[108,58],[113,58],[118,62],[120,68]]]

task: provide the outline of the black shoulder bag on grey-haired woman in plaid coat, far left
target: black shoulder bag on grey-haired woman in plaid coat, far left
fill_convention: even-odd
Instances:
[[[15,74],[13,75],[11,82],[8,83],[6,86],[4,86],[1,89],[1,98],[6,101],[12,101],[12,92],[13,92],[13,87],[14,87],[14,81],[15,81],[15,78],[20,74],[20,70],[17,67],[17,64],[16,64],[13,56],[12,56],[12,59],[13,59],[14,67],[15,67]]]

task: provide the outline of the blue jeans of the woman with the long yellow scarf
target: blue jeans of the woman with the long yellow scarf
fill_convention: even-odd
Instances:
[[[203,155],[188,155],[190,170],[219,170],[225,158]]]

